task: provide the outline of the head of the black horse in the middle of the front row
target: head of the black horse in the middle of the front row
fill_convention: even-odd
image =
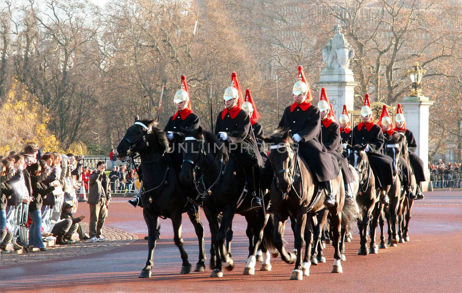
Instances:
[[[204,134],[202,127],[197,129],[183,129],[183,163],[181,165],[180,181],[182,184],[189,185],[193,180],[193,168],[199,160],[201,149],[204,144]]]

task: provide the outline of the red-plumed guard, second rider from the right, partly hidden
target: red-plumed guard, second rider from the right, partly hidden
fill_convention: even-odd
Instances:
[[[383,143],[383,149],[386,149],[387,146],[392,146],[394,144],[398,144],[399,150],[402,150],[402,144],[406,143],[404,140],[401,139],[400,134],[398,134],[394,129],[393,129],[393,122],[391,121],[390,114],[388,112],[387,106],[383,105],[382,108],[382,114],[380,115],[379,121],[378,121],[380,127],[382,128],[383,131],[383,138],[385,139]],[[411,201],[415,200],[417,198],[416,195],[412,192],[412,186],[411,186],[411,168],[407,164],[407,161],[403,158],[402,155],[399,157],[399,162],[400,162],[400,170],[402,173],[402,178],[401,178],[401,183],[404,189],[407,192],[407,196]],[[396,170],[398,172],[398,170]]]

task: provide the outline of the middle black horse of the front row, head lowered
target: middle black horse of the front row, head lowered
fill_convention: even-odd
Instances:
[[[246,184],[243,168],[228,155],[225,145],[212,133],[185,130],[184,159],[180,178],[182,183],[194,183],[203,198],[204,213],[210,225],[212,243],[216,250],[216,262],[211,277],[222,277],[222,266],[233,269],[233,260],[224,245],[225,232],[231,226],[234,214],[241,214],[252,227],[253,245],[249,247],[249,258],[244,275],[255,272],[256,253],[260,247],[263,263],[260,270],[271,270],[266,245],[260,245],[268,216],[263,210],[251,210],[252,187]],[[267,201],[265,201],[267,202]],[[217,216],[223,213],[221,225]],[[250,231],[250,230],[249,230]],[[268,239],[270,240],[270,238]]]

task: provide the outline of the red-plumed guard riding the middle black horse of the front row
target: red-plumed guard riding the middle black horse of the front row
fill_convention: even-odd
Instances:
[[[252,208],[261,208],[260,178],[263,160],[258,151],[249,114],[242,109],[242,90],[237,80],[237,73],[231,74],[231,86],[223,95],[225,109],[217,117],[215,135],[219,136],[228,147],[231,156],[243,167],[247,181],[254,187]]]

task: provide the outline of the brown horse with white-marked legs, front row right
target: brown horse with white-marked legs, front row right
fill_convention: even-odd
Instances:
[[[270,145],[268,159],[275,174],[270,190],[276,226],[274,246],[285,262],[295,262],[295,268],[290,279],[302,280],[303,275],[310,274],[313,219],[317,212],[325,208],[323,204],[324,192],[322,192],[319,183],[314,182],[313,175],[305,160],[298,156],[297,145],[294,145],[288,130],[278,130],[269,137],[265,137],[264,140]],[[335,251],[332,273],[341,273],[340,226],[344,204],[344,184],[341,173],[332,181],[332,187],[336,201],[333,207],[328,208],[332,216]],[[290,215],[296,218],[294,236],[297,256],[286,252],[282,240],[286,220]],[[303,241],[305,241],[306,247],[302,264]]]

